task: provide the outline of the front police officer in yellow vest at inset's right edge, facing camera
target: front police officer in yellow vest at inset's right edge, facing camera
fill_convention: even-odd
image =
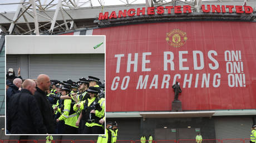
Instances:
[[[90,98],[82,102],[83,104],[81,104],[80,108],[86,122],[83,134],[103,134],[104,131],[99,121],[105,116],[105,106],[101,106],[102,102],[97,98],[99,89],[90,86],[87,93],[90,95]]]

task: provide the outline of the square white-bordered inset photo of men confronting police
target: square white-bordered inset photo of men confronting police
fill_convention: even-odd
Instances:
[[[6,36],[6,135],[105,134],[105,43]]]

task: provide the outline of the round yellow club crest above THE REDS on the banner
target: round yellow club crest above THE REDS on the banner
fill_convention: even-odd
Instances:
[[[186,37],[186,33],[180,29],[173,29],[171,32],[166,33],[165,40],[169,45],[179,48],[186,43],[188,37]]]

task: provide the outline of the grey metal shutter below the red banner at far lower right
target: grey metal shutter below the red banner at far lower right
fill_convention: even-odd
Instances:
[[[215,118],[216,139],[245,139],[250,138],[252,118]]]

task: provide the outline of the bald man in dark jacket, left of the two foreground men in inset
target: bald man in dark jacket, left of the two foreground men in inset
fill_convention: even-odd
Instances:
[[[11,134],[47,134],[42,115],[33,94],[36,83],[27,79],[22,84],[21,93],[16,93],[9,101],[7,129]]]

